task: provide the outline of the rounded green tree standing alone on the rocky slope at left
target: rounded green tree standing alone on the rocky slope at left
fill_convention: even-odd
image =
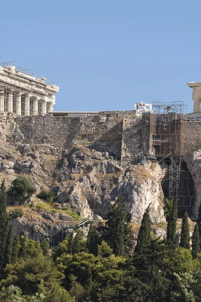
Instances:
[[[26,196],[31,196],[35,192],[36,188],[29,177],[18,176],[12,181],[12,186],[8,190],[8,195],[21,205]]]

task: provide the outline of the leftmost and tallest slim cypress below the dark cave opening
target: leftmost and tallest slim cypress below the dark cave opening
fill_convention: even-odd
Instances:
[[[176,239],[178,238],[176,236],[177,211],[177,200],[175,200],[167,223],[167,245],[172,249],[175,249],[177,245]]]

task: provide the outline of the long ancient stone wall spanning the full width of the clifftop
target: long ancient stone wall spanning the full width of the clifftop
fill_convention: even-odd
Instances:
[[[146,116],[147,119],[144,118]],[[160,155],[188,154],[201,148],[201,122],[186,121],[185,125],[182,124],[184,152],[180,147],[180,119],[173,119],[171,123],[161,120],[159,124],[162,128],[155,129],[154,133],[160,134],[161,146],[158,146]],[[171,126],[171,131],[168,125]],[[153,134],[150,134],[150,131],[149,114],[139,117],[135,111],[105,111],[88,117],[51,114],[15,116],[10,113],[0,115],[0,140],[5,143],[30,143],[43,148],[49,145],[66,150],[85,146],[101,152],[107,151],[111,156],[121,160],[132,160],[145,153],[157,155],[156,150],[153,152],[151,148]],[[165,137],[162,136],[164,131]]]

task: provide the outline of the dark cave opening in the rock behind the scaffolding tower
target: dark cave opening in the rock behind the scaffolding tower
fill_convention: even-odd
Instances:
[[[169,159],[166,164],[168,165],[168,172],[161,181],[164,197],[178,200],[179,218],[183,217],[186,211],[189,217],[194,217],[194,182],[185,161]]]

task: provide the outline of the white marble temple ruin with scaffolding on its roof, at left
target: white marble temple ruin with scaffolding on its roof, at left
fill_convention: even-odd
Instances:
[[[53,111],[59,87],[45,81],[15,66],[0,66],[0,112],[37,115]]]

